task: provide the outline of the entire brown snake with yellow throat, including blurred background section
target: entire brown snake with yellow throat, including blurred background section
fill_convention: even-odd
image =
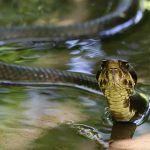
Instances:
[[[105,38],[137,23],[141,19],[139,16],[142,13],[138,0],[120,0],[114,12],[89,22],[66,27],[0,28],[0,39],[3,42],[23,40],[57,42],[93,35]],[[127,64],[122,60],[103,61],[102,71],[97,75],[97,81],[94,75],[0,62],[0,84],[49,85],[52,83],[80,88],[86,87],[95,91],[101,89],[108,100],[113,119],[132,121],[147,111],[148,102],[134,90],[137,80],[136,73],[133,69],[131,71],[126,68],[125,65]],[[141,104],[143,109],[139,109]]]

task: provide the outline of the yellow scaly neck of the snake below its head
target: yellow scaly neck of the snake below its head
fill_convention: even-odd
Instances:
[[[119,94],[118,94],[119,93]],[[130,107],[130,99],[126,89],[112,86],[105,90],[109,110],[116,121],[130,121],[136,111]]]

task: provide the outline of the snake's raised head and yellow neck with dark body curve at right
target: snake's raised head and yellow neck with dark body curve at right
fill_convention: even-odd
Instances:
[[[134,120],[149,107],[148,99],[135,90],[137,74],[128,61],[103,60],[96,78],[116,121]]]

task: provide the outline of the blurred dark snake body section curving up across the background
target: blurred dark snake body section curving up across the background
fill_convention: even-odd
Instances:
[[[84,23],[68,26],[1,27],[2,41],[62,41],[82,37],[110,37],[142,18],[139,0],[120,0],[112,13]]]

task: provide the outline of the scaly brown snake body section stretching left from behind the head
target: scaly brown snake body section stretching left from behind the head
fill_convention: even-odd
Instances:
[[[0,62],[0,83],[15,85],[68,85],[99,91],[95,76],[84,73],[37,68]]]

